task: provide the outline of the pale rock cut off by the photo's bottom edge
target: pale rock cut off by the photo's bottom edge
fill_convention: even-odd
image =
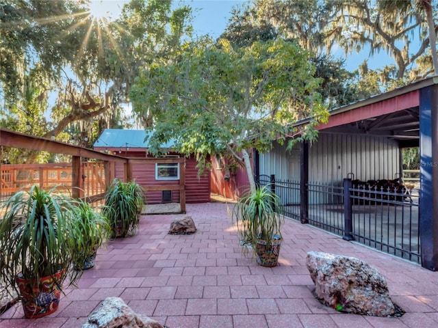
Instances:
[[[166,328],[147,316],[134,313],[120,297],[107,297],[82,328]]]

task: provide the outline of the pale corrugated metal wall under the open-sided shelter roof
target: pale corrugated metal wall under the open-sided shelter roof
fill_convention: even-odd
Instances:
[[[260,174],[299,180],[299,148],[297,143],[287,152],[276,144],[260,155]],[[385,137],[320,133],[309,147],[309,181],[340,184],[349,174],[359,180],[394,179],[400,173],[399,152],[397,141]]]

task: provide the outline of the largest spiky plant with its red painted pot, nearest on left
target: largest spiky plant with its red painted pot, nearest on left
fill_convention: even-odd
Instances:
[[[81,271],[72,270],[75,206],[55,188],[44,191],[34,186],[12,195],[1,213],[1,279],[21,295],[27,318],[55,312],[61,288],[81,276]]]

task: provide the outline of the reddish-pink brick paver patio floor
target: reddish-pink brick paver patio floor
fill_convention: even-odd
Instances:
[[[60,308],[44,318],[23,318],[21,305],[0,316],[0,327],[81,327],[106,297],[121,297],[135,312],[170,328],[438,327],[438,272],[286,220],[280,265],[259,267],[244,258],[228,206],[188,204],[198,232],[167,234],[179,215],[149,215],[136,236],[99,249],[96,267],[79,288],[66,291]],[[401,318],[342,314],[312,295],[307,251],[365,260],[385,275]]]

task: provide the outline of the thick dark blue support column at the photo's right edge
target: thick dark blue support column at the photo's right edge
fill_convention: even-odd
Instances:
[[[422,267],[438,270],[438,85],[420,90],[420,244]]]

